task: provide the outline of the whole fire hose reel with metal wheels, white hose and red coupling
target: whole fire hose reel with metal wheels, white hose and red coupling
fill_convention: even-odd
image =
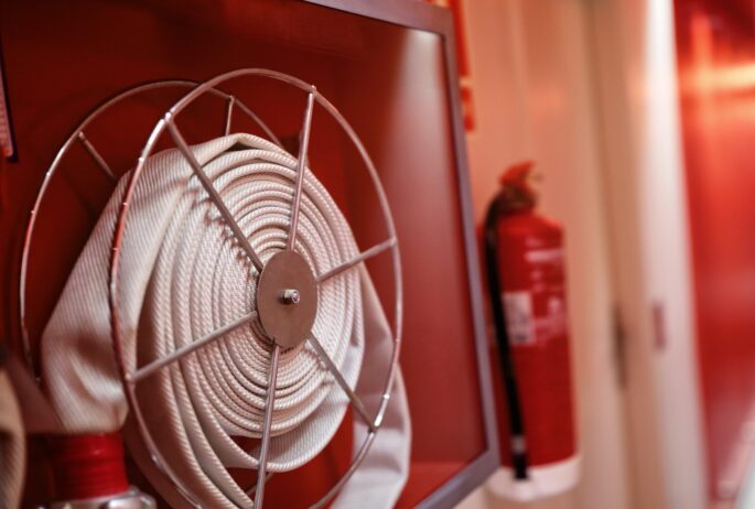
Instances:
[[[296,156],[239,98],[223,91],[226,82],[249,78],[301,91]],[[134,154],[136,167],[118,180],[42,337],[37,375],[62,423],[52,441],[62,498],[51,507],[153,505],[126,480],[122,434],[170,505],[262,508],[268,479],[322,452],[349,407],[352,463],[322,499],[309,503],[392,507],[406,483],[410,445],[398,366],[396,229],[366,149],[314,86],[273,71],[239,69],[202,84],[158,82],[126,90],[74,130],[34,212],[75,143],[114,174],[87,128],[121,101],[168,87],[190,91],[165,111]],[[203,97],[226,108],[225,132],[190,145],[179,119]],[[378,197],[388,236],[367,249],[357,246],[346,217],[308,167],[315,109],[348,137]],[[235,133],[234,112],[266,136]],[[118,126],[110,129],[116,136]],[[158,151],[165,139],[172,148]],[[35,218],[22,260],[23,325]],[[364,263],[381,253],[392,264],[391,320]],[[380,497],[369,496],[376,492]]]

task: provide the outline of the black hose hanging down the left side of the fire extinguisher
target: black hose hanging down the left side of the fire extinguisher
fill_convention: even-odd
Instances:
[[[493,307],[496,343],[498,345],[498,361],[503,375],[504,392],[510,433],[510,453],[515,478],[527,479],[528,457],[527,441],[525,438],[525,422],[522,419],[519,387],[511,358],[511,347],[506,327],[506,315],[501,297],[503,279],[498,270],[498,232],[497,224],[503,213],[503,196],[499,194],[490,204],[485,217],[484,243],[485,267],[487,270],[487,289]]]

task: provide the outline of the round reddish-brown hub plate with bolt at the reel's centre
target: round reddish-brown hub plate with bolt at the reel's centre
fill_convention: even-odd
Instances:
[[[270,258],[257,282],[257,313],[270,339],[282,348],[304,342],[317,315],[317,282],[295,251]]]

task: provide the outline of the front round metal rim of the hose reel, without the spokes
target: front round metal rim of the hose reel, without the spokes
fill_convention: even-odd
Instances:
[[[359,155],[362,156],[362,160],[370,175],[370,178],[373,181],[373,186],[377,193],[378,201],[380,204],[380,208],[384,215],[384,219],[386,223],[386,228],[388,230],[388,234],[390,236],[390,243],[387,246],[391,249],[391,261],[393,266],[393,275],[395,275],[395,300],[396,300],[396,306],[395,306],[395,316],[393,316],[393,349],[391,353],[391,359],[390,359],[390,366],[388,368],[387,377],[386,377],[386,382],[384,386],[384,392],[381,397],[380,404],[378,407],[378,410],[376,412],[376,415],[374,420],[371,421],[370,431],[368,432],[362,447],[356,452],[354,455],[354,458],[352,461],[352,464],[349,465],[347,472],[343,475],[343,477],[333,486],[333,488],[316,503],[314,503],[312,507],[313,508],[320,508],[323,507],[325,503],[327,503],[338,492],[338,490],[346,484],[346,481],[350,478],[350,476],[356,472],[358,468],[359,464],[364,461],[365,456],[367,455],[367,452],[369,447],[371,446],[375,435],[377,431],[379,430],[380,425],[382,424],[382,420],[385,416],[385,412],[390,399],[390,391],[392,389],[393,381],[396,379],[396,373],[398,369],[398,357],[400,353],[400,346],[401,346],[401,329],[402,329],[402,308],[403,308],[403,286],[402,286],[402,280],[401,280],[401,262],[400,262],[400,254],[399,254],[399,247],[398,247],[398,237],[396,234],[396,227],[393,224],[393,218],[390,213],[390,207],[388,205],[388,199],[385,194],[385,189],[382,187],[382,184],[380,182],[380,178],[378,176],[377,170],[375,167],[375,164],[373,163],[371,158],[367,153],[367,150],[365,149],[364,144],[362,143],[362,140],[356,134],[352,126],[348,123],[348,121],[343,117],[343,115],[333,106],[326,98],[324,98],[322,95],[320,95],[316,90],[316,88],[313,85],[310,85],[299,78],[295,78],[293,76],[279,73],[276,71],[270,71],[270,69],[263,69],[263,68],[244,68],[244,69],[237,69],[229,73],[225,73],[222,75],[218,75],[207,82],[204,82],[193,90],[191,90],[188,94],[186,94],[183,98],[181,98],[170,110],[165,112],[163,118],[157,123],[154,127],[152,133],[150,134],[147,144],[142,149],[142,152],[139,156],[139,162],[137,164],[137,167],[132,171],[132,173],[129,176],[129,181],[127,183],[126,191],[123,193],[123,198],[121,202],[121,206],[119,209],[118,214],[118,220],[116,223],[116,228],[114,231],[114,237],[112,237],[112,245],[111,245],[111,260],[110,260],[110,272],[109,272],[109,304],[110,304],[110,318],[111,318],[111,331],[112,331],[112,339],[114,339],[114,347],[116,350],[116,357],[118,359],[118,368],[119,372],[121,376],[121,381],[122,386],[126,392],[126,398],[129,404],[129,408],[133,412],[133,415],[137,420],[137,423],[139,425],[139,429],[141,431],[142,438],[144,440],[144,444],[147,445],[148,450],[150,451],[150,456],[158,467],[159,470],[161,470],[168,479],[173,483],[179,490],[188,498],[190,502],[195,505],[196,507],[199,507],[199,505],[196,502],[196,497],[190,487],[182,486],[181,483],[177,480],[177,476],[174,474],[172,468],[170,467],[169,463],[165,462],[165,458],[163,455],[160,453],[158,447],[155,446],[155,443],[152,438],[151,433],[149,432],[149,427],[147,426],[147,423],[144,422],[143,415],[141,413],[141,410],[139,408],[139,402],[137,399],[136,394],[136,385],[137,380],[134,380],[133,375],[134,372],[130,372],[128,370],[128,366],[126,365],[126,355],[123,351],[123,338],[121,337],[120,333],[120,314],[119,314],[119,303],[118,303],[118,281],[119,281],[119,273],[120,273],[120,248],[123,241],[123,232],[125,232],[125,227],[128,220],[128,214],[129,214],[129,203],[133,196],[134,189],[137,182],[139,181],[139,176],[141,172],[144,169],[144,164],[148,161],[148,158],[151,155],[157,141],[159,140],[160,136],[165,132],[165,129],[176,129],[173,124],[173,119],[181,112],[183,111],[191,102],[193,102],[196,98],[199,96],[204,95],[205,93],[208,93],[213,90],[217,85],[234,79],[238,77],[251,77],[251,76],[258,76],[258,77],[265,77],[265,78],[270,78],[274,80],[282,82],[284,84],[291,85],[295,88],[301,89],[302,91],[308,93],[309,97],[309,108],[308,108],[308,113],[310,115],[310,120],[311,120],[311,108],[312,108],[312,102],[313,100],[316,101],[322,108],[324,108],[341,126],[341,128],[344,130],[344,132],[348,136],[350,141],[354,143],[354,145],[357,148]],[[308,120],[309,123],[309,120]],[[173,136],[174,141],[176,141],[176,144],[179,144],[179,140],[176,139],[176,133],[174,131],[171,131],[171,134]],[[177,134],[180,136],[180,134]],[[309,140],[309,126],[305,124],[304,131],[303,131],[303,137],[302,137],[302,147],[304,148],[304,153],[306,149],[306,141]],[[183,141],[183,140],[182,140]],[[180,147],[181,148],[181,147]],[[185,147],[184,147],[185,149]],[[182,150],[183,151],[183,150]],[[185,155],[185,153],[184,153]],[[302,156],[300,154],[300,160],[302,160]],[[303,163],[302,163],[303,164]],[[301,172],[300,172],[301,173]],[[301,181],[301,178],[300,178]],[[298,186],[301,187],[301,182],[298,183]],[[296,191],[298,193],[298,191]],[[298,197],[294,195],[294,199],[298,199]],[[292,229],[294,230],[294,236],[295,236],[295,213],[293,214],[292,217]],[[368,252],[363,251],[363,253]],[[381,251],[380,251],[381,252]],[[366,259],[366,258],[365,258]],[[252,258],[252,262],[255,259]],[[364,261],[364,260],[362,260]],[[355,266],[358,266],[360,263],[357,262]],[[316,343],[316,340],[315,340]],[[274,373],[277,371],[277,348],[273,348],[273,355],[272,355],[272,361],[271,361],[271,373]],[[271,385],[274,383],[272,381],[271,377]],[[269,385],[270,387],[270,385]],[[270,412],[271,414],[272,412]],[[267,415],[266,415],[267,418]],[[266,458],[265,456],[265,440],[262,441],[262,452],[260,453],[260,458]],[[260,483],[258,479],[258,487],[261,485],[263,488],[265,481],[267,480],[267,476],[263,475],[265,473],[265,466],[266,466],[266,459],[262,459],[260,462],[261,468],[260,468],[260,478],[263,480]],[[258,490],[259,494],[260,490]],[[261,503],[261,498],[260,500],[260,508],[262,506]],[[257,506],[258,503],[255,503]]]

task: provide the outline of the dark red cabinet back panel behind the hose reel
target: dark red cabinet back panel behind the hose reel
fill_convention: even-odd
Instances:
[[[19,161],[0,167],[0,323],[14,348],[20,340],[15,292],[28,214],[55,151],[85,112],[115,91],[145,80],[204,79],[239,67],[269,67],[315,83],[337,105],[373,155],[395,214],[405,271],[401,364],[413,425],[410,478],[399,507],[413,507],[485,450],[438,36],[283,0],[19,0],[0,9],[19,144]],[[295,137],[302,95],[262,83],[251,88],[230,84],[228,89],[273,131]],[[88,137],[123,173],[133,166],[152,124],[180,94],[160,93],[118,108],[104,119],[119,127],[117,138],[104,137],[96,126]],[[197,106],[199,115],[187,115],[179,124],[190,142],[206,140],[220,133],[223,112],[223,105],[208,100]],[[359,246],[384,240],[376,198],[357,167],[357,154],[322,110],[315,110],[310,159],[355,225]],[[61,175],[52,184],[52,201],[40,210],[40,235],[31,254],[33,342],[111,192],[83,151],[74,153]],[[388,257],[375,259],[370,270],[390,308]],[[34,451],[29,505],[50,500],[42,480],[48,472],[47,454],[40,444]],[[344,424],[333,447],[292,474],[301,477],[292,481],[276,476],[271,507],[302,507],[324,494],[345,470],[349,454],[350,426]],[[138,473],[131,475],[138,480]],[[248,475],[251,483],[254,473]],[[288,489],[291,483],[295,490]]]

